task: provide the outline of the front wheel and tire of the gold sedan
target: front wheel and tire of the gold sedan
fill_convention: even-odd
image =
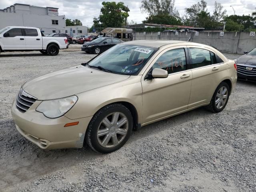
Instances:
[[[121,123],[121,120],[123,124],[118,128],[118,122]],[[122,104],[110,104],[101,108],[93,116],[86,130],[86,143],[96,152],[110,153],[126,143],[132,134],[132,128],[132,114],[128,108]]]

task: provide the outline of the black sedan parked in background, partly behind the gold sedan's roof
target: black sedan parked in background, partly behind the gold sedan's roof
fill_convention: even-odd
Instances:
[[[112,37],[100,37],[97,38],[91,42],[86,42],[81,47],[82,51],[85,51],[86,53],[93,52],[95,54],[100,54],[106,50],[108,50],[110,47],[122,43],[123,41],[117,38]]]

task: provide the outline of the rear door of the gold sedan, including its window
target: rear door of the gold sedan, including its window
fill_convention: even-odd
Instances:
[[[190,69],[193,74],[188,108],[210,102],[225,67],[217,62],[214,52],[207,48],[188,46]]]

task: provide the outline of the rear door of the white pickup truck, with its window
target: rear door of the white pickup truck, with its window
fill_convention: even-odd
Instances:
[[[42,38],[36,29],[24,29],[27,50],[42,50]]]

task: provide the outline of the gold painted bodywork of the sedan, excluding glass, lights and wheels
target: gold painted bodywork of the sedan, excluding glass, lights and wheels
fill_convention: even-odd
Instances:
[[[19,112],[14,102],[12,116],[17,130],[40,148],[80,148],[92,116],[108,104],[132,104],[137,111],[138,124],[144,126],[209,104],[214,90],[223,80],[230,80],[232,89],[236,85],[234,61],[227,60],[210,46],[192,42],[147,40],[124,44],[155,46],[159,50],[137,76],[111,74],[86,66],[76,66],[26,82],[24,90],[38,100],[76,95],[78,101],[64,116],[55,119],[36,112],[41,101],[36,101],[25,113]],[[167,78],[145,80],[146,74],[163,52],[186,46],[211,50],[224,63],[169,74]],[[218,67],[218,70],[212,70],[214,67]],[[181,78],[183,75],[189,76]],[[66,123],[74,121],[79,121],[79,124],[64,127]],[[41,140],[47,141],[46,146],[40,144]]]

